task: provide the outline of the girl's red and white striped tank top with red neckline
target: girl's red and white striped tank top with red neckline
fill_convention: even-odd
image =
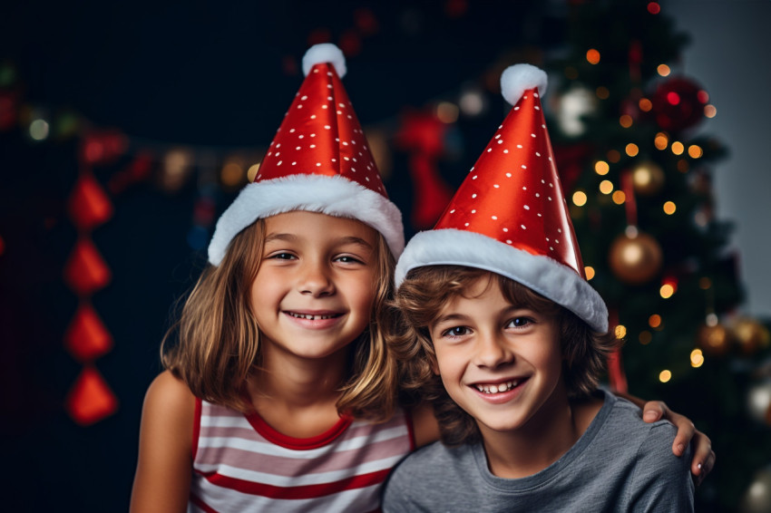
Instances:
[[[257,413],[197,399],[188,511],[379,511],[385,477],[414,440],[401,409],[384,423],[342,418],[297,439]]]

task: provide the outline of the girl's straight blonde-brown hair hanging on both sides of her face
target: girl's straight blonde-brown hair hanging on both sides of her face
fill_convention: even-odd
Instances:
[[[219,266],[207,266],[161,344],[164,368],[187,383],[196,397],[248,412],[249,375],[259,372],[259,326],[251,309],[251,285],[262,260],[265,221],[258,219],[229,244]],[[383,326],[393,312],[395,259],[377,232],[376,294],[369,327],[352,343],[350,373],[341,387],[337,411],[385,421],[396,402],[396,364],[388,353]],[[176,336],[174,336],[176,334]],[[176,339],[176,340],[174,340]]]

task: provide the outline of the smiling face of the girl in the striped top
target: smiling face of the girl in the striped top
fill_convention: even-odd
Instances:
[[[251,305],[262,351],[338,353],[366,329],[376,290],[376,231],[355,219],[293,211],[265,219]]]

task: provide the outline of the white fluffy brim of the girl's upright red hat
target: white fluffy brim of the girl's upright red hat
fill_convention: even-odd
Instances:
[[[340,176],[298,174],[244,187],[217,221],[209,262],[219,266],[233,237],[257,219],[291,210],[358,219],[383,234],[395,258],[405,247],[402,214],[390,200]]]

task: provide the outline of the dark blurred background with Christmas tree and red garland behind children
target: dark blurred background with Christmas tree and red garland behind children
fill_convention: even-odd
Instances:
[[[698,511],[771,511],[771,2],[15,2],[0,9],[4,504],[128,507],[161,337],[259,166],[310,44],[346,90],[407,237],[510,106],[545,107],[608,382],[717,451]]]

